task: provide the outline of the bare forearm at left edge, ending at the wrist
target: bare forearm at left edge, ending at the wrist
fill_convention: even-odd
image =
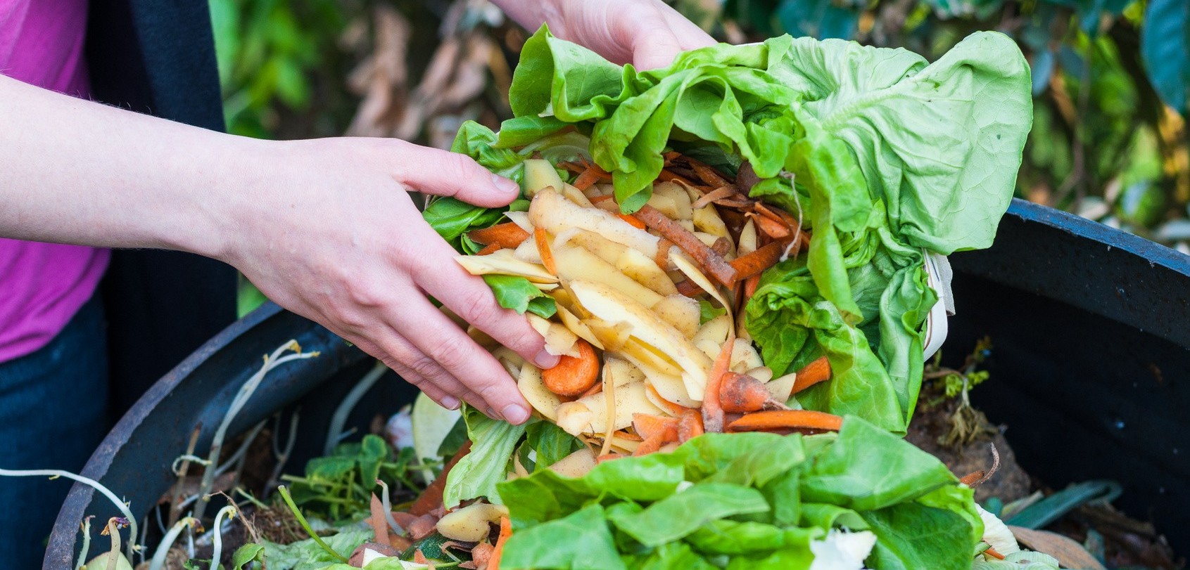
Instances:
[[[0,76],[0,236],[218,256],[256,146]]]

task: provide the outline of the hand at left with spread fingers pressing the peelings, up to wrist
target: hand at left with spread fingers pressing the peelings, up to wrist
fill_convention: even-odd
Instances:
[[[259,141],[253,182],[232,204],[225,261],[281,306],[383,361],[445,407],[459,399],[522,423],[528,406],[483,348],[432,296],[541,368],[558,357],[528,321],[422,221],[407,190],[505,205],[516,184],[463,154],[395,139]]]

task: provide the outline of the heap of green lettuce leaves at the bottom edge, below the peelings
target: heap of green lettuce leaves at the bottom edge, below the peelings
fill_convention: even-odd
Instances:
[[[868,568],[965,570],[983,533],[946,466],[858,417],[838,435],[707,433],[497,490],[514,528],[508,569],[808,570],[812,542],[845,528],[876,536]]]

